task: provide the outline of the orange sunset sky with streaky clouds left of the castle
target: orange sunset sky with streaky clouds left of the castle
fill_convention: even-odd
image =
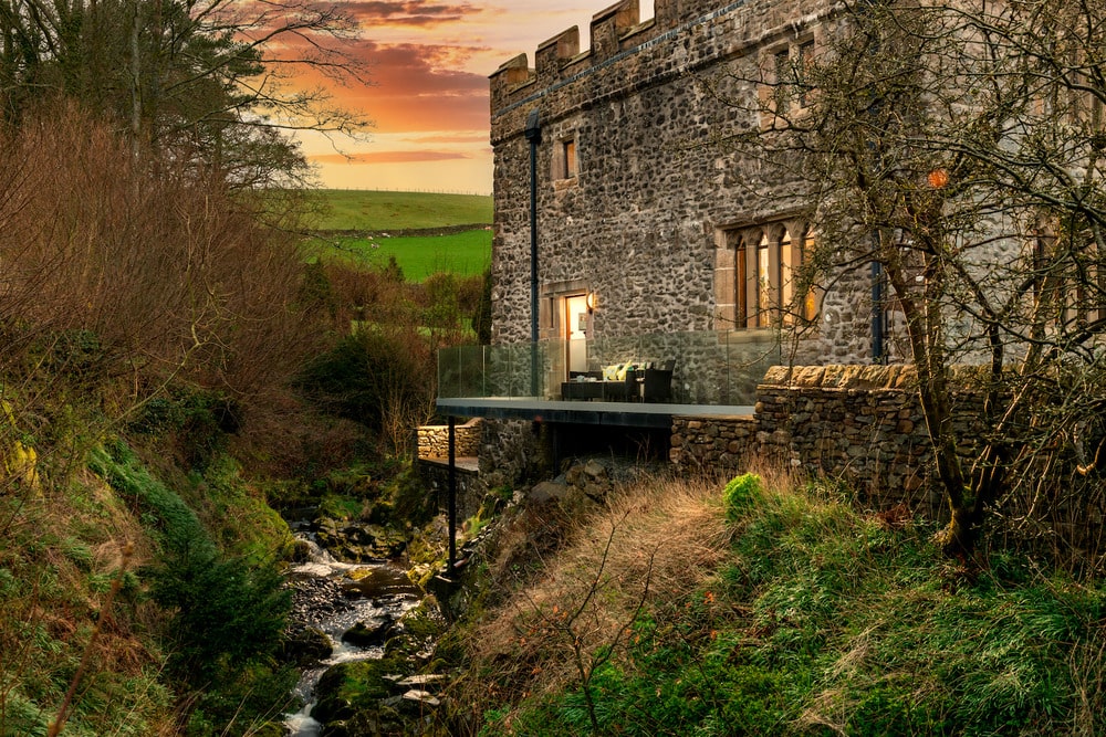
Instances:
[[[373,86],[337,91],[375,122],[368,143],[303,136],[322,186],[491,192],[488,76],[572,25],[589,45],[592,15],[614,0],[361,0],[359,55]],[[641,1],[641,19],[653,1]],[[352,155],[352,160],[345,156]]]

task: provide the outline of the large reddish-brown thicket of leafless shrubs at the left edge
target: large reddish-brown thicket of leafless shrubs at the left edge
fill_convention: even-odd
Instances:
[[[289,238],[218,172],[155,167],[108,126],[51,112],[2,143],[0,316],[23,327],[7,367],[76,336],[87,365],[60,346],[58,368],[129,376],[135,400],[179,375],[239,397],[285,377],[313,333]]]

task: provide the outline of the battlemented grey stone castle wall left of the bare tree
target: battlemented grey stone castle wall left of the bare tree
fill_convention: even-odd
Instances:
[[[540,113],[538,231],[542,338],[560,330],[557,297],[581,289],[599,306],[589,338],[733,327],[719,308],[719,252],[734,228],[791,217],[801,193],[780,172],[714,143],[759,125],[727,99],[755,99],[768,55],[820,38],[830,0],[636,0],[596,13],[592,49],[571,29],[491,77],[495,224],[493,343],[530,339],[530,144]],[[728,75],[730,69],[737,74]],[[721,85],[710,88],[703,81]],[[744,81],[742,81],[744,80]],[[574,145],[576,176],[561,159]],[[866,362],[866,266],[836,280],[825,314],[790,359]],[[732,278],[732,276],[731,276]],[[770,330],[765,333],[772,335]]]

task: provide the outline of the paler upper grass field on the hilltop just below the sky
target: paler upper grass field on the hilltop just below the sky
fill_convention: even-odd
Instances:
[[[491,197],[432,192],[317,190],[317,230],[411,230],[491,224]]]

